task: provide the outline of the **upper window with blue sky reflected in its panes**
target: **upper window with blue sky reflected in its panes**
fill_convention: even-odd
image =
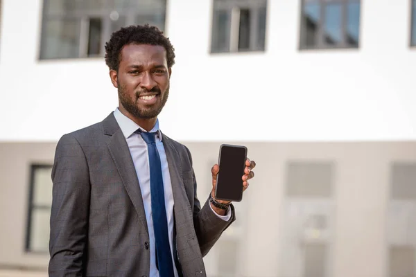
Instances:
[[[358,48],[360,0],[302,0],[300,48]]]

